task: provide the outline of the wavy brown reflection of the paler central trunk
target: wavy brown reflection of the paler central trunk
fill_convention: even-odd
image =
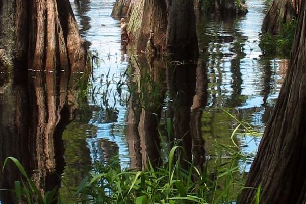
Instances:
[[[126,137],[132,156],[131,167],[145,170],[149,161],[155,166],[160,162],[158,124],[165,97],[165,61],[156,60],[147,64],[146,58],[139,56],[132,65],[130,89],[133,91],[129,101]]]

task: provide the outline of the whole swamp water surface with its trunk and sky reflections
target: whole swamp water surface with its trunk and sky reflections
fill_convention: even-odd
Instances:
[[[149,65],[142,56],[126,54],[120,22],[110,17],[113,4],[71,1],[80,33],[99,58],[87,100],[78,99],[73,76],[65,73],[29,71],[28,79],[17,74],[0,84],[0,161],[18,158],[42,192],[61,184],[65,201],[64,186],[77,186],[96,161],[119,155],[122,168],[137,169],[148,158],[156,162],[159,135],[168,146],[184,146],[198,166],[230,157],[218,144],[233,146],[238,123],[224,110],[258,130],[259,137],[243,128],[235,134],[237,145],[254,154],[287,67],[285,60],[261,57],[264,1],[248,0],[245,17],[198,18],[200,59],[175,70],[162,59]],[[251,157],[239,166],[247,171],[250,162]],[[13,188],[18,170],[10,165],[3,175],[1,186]]]

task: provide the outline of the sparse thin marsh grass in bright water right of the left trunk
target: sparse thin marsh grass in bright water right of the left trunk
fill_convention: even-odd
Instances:
[[[98,53],[92,50],[89,54],[90,74],[83,73],[75,84],[74,89],[77,90],[77,98],[80,104],[83,102],[94,106],[94,110],[98,110],[95,120],[100,123],[115,122],[118,117],[117,105],[126,105],[127,96],[124,90],[127,90],[125,78],[126,71],[119,74],[110,74],[111,67],[106,72],[99,74],[94,78],[94,70],[100,69],[104,60],[98,57]],[[84,106],[80,106],[82,109]]]

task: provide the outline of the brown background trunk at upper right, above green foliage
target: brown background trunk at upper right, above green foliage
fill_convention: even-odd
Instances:
[[[271,7],[264,19],[262,32],[276,34],[282,24],[290,22],[297,17],[300,0],[273,0]]]

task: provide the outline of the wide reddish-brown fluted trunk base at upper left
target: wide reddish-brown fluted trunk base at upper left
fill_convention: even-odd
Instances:
[[[2,7],[10,4],[15,6],[16,62],[36,70],[85,69],[85,42],[68,0],[2,1]]]

